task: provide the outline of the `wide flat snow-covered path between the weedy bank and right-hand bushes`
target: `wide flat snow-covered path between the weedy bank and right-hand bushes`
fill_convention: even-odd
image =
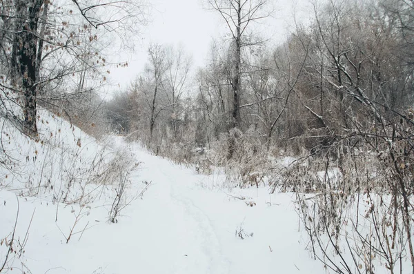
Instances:
[[[246,206],[223,190],[203,188],[200,181],[212,178],[139,148],[132,151],[143,162],[140,176],[152,182],[145,205],[140,205],[150,214],[131,216],[146,224],[142,229],[148,237],[139,245],[154,251],[139,251],[144,262],[161,262],[152,264],[157,268],[149,268],[151,273],[320,273],[319,264],[298,244],[297,215],[289,195],[275,198],[280,207],[266,206],[272,201],[267,189],[233,193],[257,203]],[[235,235],[240,228],[245,239]],[[250,233],[255,235],[248,237]]]

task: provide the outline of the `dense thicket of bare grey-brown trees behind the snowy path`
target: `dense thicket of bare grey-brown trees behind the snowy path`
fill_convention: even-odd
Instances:
[[[298,24],[279,46],[248,31],[268,15],[259,12],[266,2],[208,1],[230,39],[213,41],[193,77],[183,49],[150,46],[146,70],[106,104],[112,130],[163,154],[181,146],[186,160],[194,148],[214,148],[224,164],[237,158],[239,142],[250,156],[328,153],[342,168],[346,152],[337,144],[367,148],[369,137],[377,149],[390,137],[382,123],[411,123],[408,2],[315,4],[313,22]]]

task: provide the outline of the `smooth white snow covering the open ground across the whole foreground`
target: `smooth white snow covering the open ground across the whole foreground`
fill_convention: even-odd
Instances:
[[[68,125],[62,128],[72,128]],[[199,175],[195,168],[172,164],[122,137],[108,140],[113,152],[123,151],[139,162],[131,173],[130,197],[145,182],[150,183],[148,190],[124,208],[117,224],[109,224],[110,190],[81,206],[53,203],[50,195],[23,197],[16,184],[2,184],[0,239],[11,239],[17,201],[14,238],[23,244],[27,233],[24,253],[12,256],[6,273],[324,272],[305,249],[293,194],[212,187],[220,176]],[[64,236],[79,211],[85,214],[66,244]],[[2,244],[0,264],[6,251]]]

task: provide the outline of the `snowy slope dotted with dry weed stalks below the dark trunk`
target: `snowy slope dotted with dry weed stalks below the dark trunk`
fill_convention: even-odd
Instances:
[[[39,111],[39,139],[22,135],[0,120],[0,187],[55,202],[90,202],[97,185],[112,184],[128,157],[97,141],[47,110]]]

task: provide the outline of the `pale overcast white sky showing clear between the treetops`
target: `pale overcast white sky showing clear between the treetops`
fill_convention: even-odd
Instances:
[[[144,69],[150,43],[182,44],[186,52],[193,56],[193,68],[197,68],[204,66],[213,37],[223,37],[226,32],[219,14],[206,10],[203,0],[148,1],[153,5],[151,21],[141,29],[139,37],[133,37],[137,41],[135,51],[122,57],[128,61],[128,68],[111,70],[112,83],[119,84],[121,89],[126,88]],[[276,8],[273,17],[262,23],[260,28],[266,31],[266,36],[272,37],[270,43],[275,44],[286,38],[288,26],[293,24],[293,10],[299,19],[311,13],[308,0],[275,0],[273,6]]]

